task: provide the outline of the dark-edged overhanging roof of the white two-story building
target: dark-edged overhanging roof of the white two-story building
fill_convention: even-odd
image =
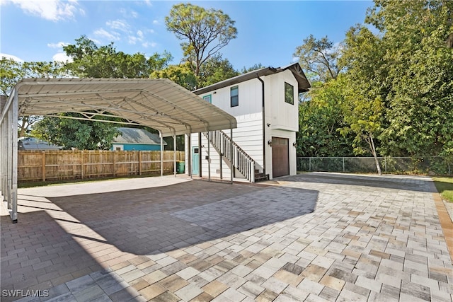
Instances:
[[[244,81],[248,81],[251,79],[256,79],[258,76],[269,76],[270,74],[277,74],[279,72],[285,71],[285,70],[290,70],[292,74],[294,74],[294,77],[297,79],[297,83],[299,83],[298,86],[298,91],[299,93],[304,92],[304,91],[309,91],[309,88],[311,87],[309,81],[306,79],[306,76],[304,74],[304,71],[302,71],[302,67],[300,66],[299,63],[294,63],[285,67],[278,67],[278,68],[273,68],[273,67],[265,67],[263,69],[257,69],[250,71],[246,74],[240,74],[239,76],[234,76],[231,79],[226,79],[224,81],[220,81],[218,83],[214,83],[210,86],[206,86],[200,89],[197,89],[193,91],[193,93],[197,95],[201,95],[203,93],[207,93],[210,91],[214,91],[220,88],[224,88],[227,86],[231,86],[237,83],[241,83]]]

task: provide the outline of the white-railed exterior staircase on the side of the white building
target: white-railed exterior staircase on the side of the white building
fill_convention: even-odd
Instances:
[[[231,138],[225,134],[222,130],[204,132],[205,137],[210,141],[214,149],[220,156],[241,173],[249,182],[260,182],[269,180],[269,175],[260,173],[259,169],[256,169],[256,163],[246,151],[231,141]]]

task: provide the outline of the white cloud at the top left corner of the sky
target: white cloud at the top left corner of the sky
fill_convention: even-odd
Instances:
[[[9,0],[23,11],[50,21],[73,19],[77,12],[84,14],[76,0]]]

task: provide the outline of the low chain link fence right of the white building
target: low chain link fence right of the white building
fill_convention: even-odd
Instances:
[[[382,173],[452,175],[452,160],[430,157],[378,157]],[[301,172],[377,173],[373,157],[298,157]]]

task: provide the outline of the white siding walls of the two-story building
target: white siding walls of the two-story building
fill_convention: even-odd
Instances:
[[[215,91],[203,93],[200,97],[210,95],[212,105],[228,112],[236,117],[237,128],[233,129],[233,140],[253,158],[256,168],[263,171],[263,131],[265,146],[265,169],[270,179],[273,176],[272,147],[268,141],[273,137],[288,139],[289,144],[289,175],[297,173],[296,148],[293,144],[296,141],[296,132],[299,131],[299,106],[297,80],[291,71],[282,71],[277,74],[262,76],[265,85],[265,121],[263,122],[262,107],[262,84],[258,79],[250,79],[235,85],[218,88]],[[285,103],[285,82],[294,87],[294,103]],[[239,105],[231,107],[231,87],[239,88]],[[269,125],[268,125],[269,124]],[[264,126],[264,129],[263,129]],[[224,129],[229,136],[230,130]],[[192,135],[192,146],[198,146],[198,135]],[[208,164],[207,139],[202,135],[202,147],[200,148],[202,158],[202,175],[207,177]],[[217,151],[210,146],[211,176],[219,177],[220,157]],[[229,167],[223,162],[222,173],[224,178],[229,177]]]

